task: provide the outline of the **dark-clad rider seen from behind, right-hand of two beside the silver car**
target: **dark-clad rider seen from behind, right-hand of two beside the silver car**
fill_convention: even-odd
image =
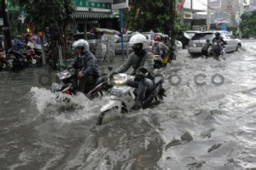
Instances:
[[[214,57],[217,58],[218,60],[218,53],[220,53],[225,59],[224,54],[225,54],[225,47],[223,45],[226,45],[226,42],[223,40],[221,34],[219,32],[215,33],[215,37],[213,39],[213,52],[214,52]]]

